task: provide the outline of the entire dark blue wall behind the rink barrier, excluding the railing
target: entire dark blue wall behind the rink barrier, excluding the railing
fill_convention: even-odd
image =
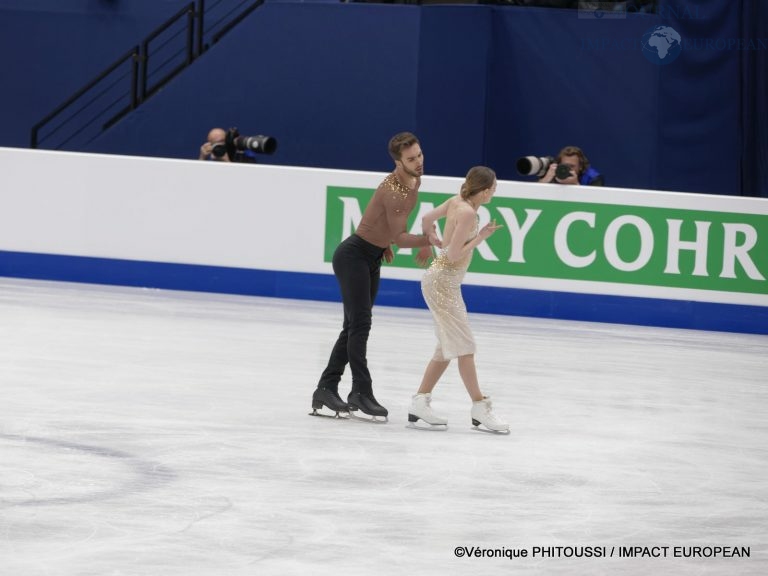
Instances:
[[[185,2],[58,4],[0,0],[0,49],[19,54],[4,66],[18,90],[0,95],[15,111],[0,145],[26,146],[35,121]],[[688,4],[598,20],[511,6],[268,1],[81,149],[195,158],[210,127],[237,126],[278,139],[261,163],[387,170],[387,139],[413,130],[432,174],[485,163],[524,179],[519,156],[575,144],[609,185],[768,196],[765,107],[749,97],[766,91],[765,54],[684,50],[657,66],[639,48],[657,24],[685,39],[761,34],[764,23],[744,29],[745,6],[758,20],[766,10],[753,0]]]

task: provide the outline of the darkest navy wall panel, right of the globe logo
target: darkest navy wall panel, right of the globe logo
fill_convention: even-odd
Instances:
[[[696,12],[670,10],[662,20],[685,46],[673,64],[659,70],[655,154],[657,182],[667,190],[741,193],[743,54],[716,48],[741,36],[740,21],[730,1],[706,2]]]

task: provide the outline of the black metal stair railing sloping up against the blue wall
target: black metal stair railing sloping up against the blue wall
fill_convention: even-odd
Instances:
[[[264,0],[197,0],[32,127],[31,148],[80,150],[156,94]],[[210,22],[210,24],[209,24]]]

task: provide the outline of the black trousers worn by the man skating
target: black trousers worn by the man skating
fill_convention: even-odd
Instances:
[[[339,282],[344,303],[344,324],[320,377],[319,388],[338,391],[341,375],[349,364],[352,391],[372,392],[366,353],[383,255],[383,248],[355,234],[339,244],[333,253],[333,273]]]

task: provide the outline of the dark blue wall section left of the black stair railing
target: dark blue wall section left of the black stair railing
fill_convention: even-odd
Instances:
[[[36,122],[186,3],[0,0],[0,146],[29,146]]]

